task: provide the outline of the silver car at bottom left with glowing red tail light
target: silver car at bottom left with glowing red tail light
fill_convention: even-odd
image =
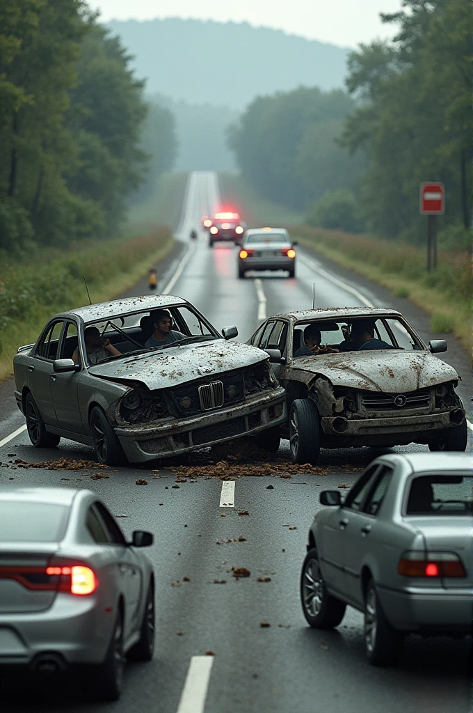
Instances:
[[[80,669],[90,694],[120,695],[125,655],[152,658],[155,580],[88,490],[0,488],[0,666]],[[133,545],[133,546],[132,546]]]

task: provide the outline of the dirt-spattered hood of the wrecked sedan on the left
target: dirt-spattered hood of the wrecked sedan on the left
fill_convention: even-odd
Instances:
[[[133,354],[123,359],[90,366],[89,373],[113,381],[140,381],[148,389],[165,389],[173,384],[242,369],[268,359],[261,349],[241,342],[176,343],[175,347]]]

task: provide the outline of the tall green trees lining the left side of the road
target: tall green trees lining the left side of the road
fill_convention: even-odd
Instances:
[[[85,1],[2,0],[0,249],[118,230],[148,170],[143,129],[159,126],[148,144],[160,168],[174,158],[159,143],[175,141],[172,115],[147,116],[143,88]]]

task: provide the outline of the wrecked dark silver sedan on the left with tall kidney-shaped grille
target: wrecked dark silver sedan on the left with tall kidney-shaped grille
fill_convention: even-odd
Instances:
[[[161,321],[160,321],[161,320]],[[164,324],[160,332],[160,324]],[[231,343],[180,297],[130,297],[56,314],[14,357],[31,443],[61,436],[108,465],[259,434],[286,418],[269,357]]]

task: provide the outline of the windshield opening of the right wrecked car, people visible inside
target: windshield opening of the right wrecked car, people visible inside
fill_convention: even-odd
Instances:
[[[313,327],[312,327],[313,325]],[[310,329],[308,329],[310,327]],[[308,329],[308,332],[306,332]],[[353,352],[373,349],[425,349],[407,322],[397,317],[354,317],[353,319],[311,320],[298,322],[293,331],[293,356],[308,356],[313,340],[322,347],[331,347],[332,352]],[[373,336],[371,336],[371,334]],[[317,350],[316,350],[317,351]],[[323,354],[323,350],[316,356]]]

